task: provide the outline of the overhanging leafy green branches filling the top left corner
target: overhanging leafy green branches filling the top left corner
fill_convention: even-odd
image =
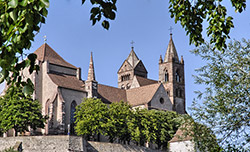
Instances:
[[[29,72],[38,70],[35,65],[35,54],[28,55],[24,49],[29,49],[34,40],[35,32],[39,32],[41,24],[45,23],[48,0],[1,0],[0,1],[0,83],[21,85],[26,94],[33,92],[30,79],[25,81],[20,73],[24,68]],[[22,62],[19,62],[23,60]],[[13,85],[11,85],[13,86]]]

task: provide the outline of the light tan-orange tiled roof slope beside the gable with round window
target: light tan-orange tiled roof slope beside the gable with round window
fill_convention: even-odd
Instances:
[[[153,98],[159,86],[160,83],[155,83],[126,90],[128,103],[132,106],[148,103]]]

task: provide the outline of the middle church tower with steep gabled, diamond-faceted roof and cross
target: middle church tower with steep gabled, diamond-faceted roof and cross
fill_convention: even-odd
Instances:
[[[117,74],[118,74],[118,88],[121,89],[129,89],[131,87],[131,83],[135,75],[147,78],[148,72],[142,61],[135,54],[133,46],[131,48],[129,56],[123,62]]]

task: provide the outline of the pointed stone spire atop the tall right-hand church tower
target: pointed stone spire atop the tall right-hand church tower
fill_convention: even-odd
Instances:
[[[175,45],[174,45],[174,41],[172,38],[172,33],[170,34],[170,40],[168,43],[168,48],[164,57],[164,62],[169,62],[172,61],[172,59],[174,58],[174,60],[176,62],[179,62],[179,57],[178,57],[178,53],[176,51]]]

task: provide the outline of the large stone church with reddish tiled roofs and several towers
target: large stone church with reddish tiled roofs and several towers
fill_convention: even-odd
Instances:
[[[159,79],[148,79],[148,71],[134,48],[118,70],[118,87],[98,83],[91,53],[87,80],[81,79],[81,68],[65,61],[48,44],[35,52],[38,73],[24,70],[35,87],[34,99],[42,104],[49,119],[42,134],[67,134],[74,122],[75,107],[84,98],[100,98],[104,103],[125,101],[133,107],[185,111],[184,60],[179,59],[172,34],[164,58],[159,59]]]

